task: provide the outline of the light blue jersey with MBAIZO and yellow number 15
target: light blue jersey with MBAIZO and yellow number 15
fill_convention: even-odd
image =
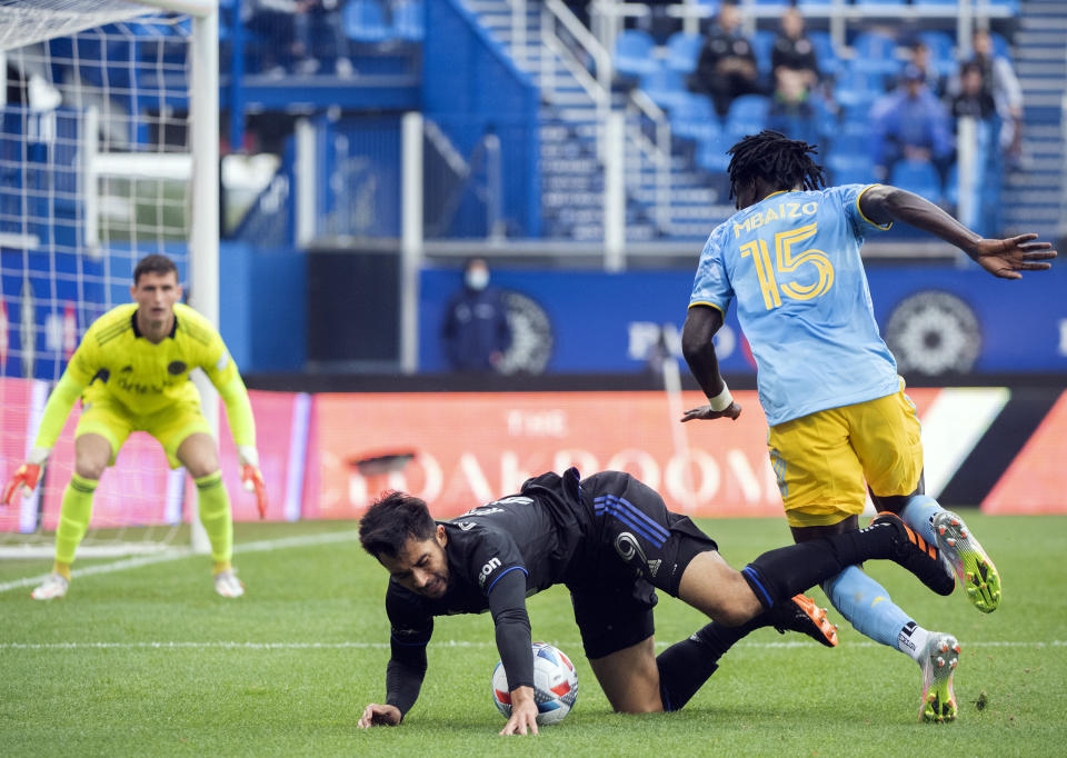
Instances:
[[[770,426],[900,389],[878,333],[859,248],[885,230],[864,217],[870,184],[776,192],[716,227],[689,306],[737,317]]]

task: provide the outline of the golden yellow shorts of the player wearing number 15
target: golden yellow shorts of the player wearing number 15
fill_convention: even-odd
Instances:
[[[910,495],[923,475],[915,405],[900,391],[770,428],[767,448],[790,527],[828,526],[880,497]]]

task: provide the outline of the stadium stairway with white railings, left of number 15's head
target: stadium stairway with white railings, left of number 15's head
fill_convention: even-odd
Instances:
[[[597,157],[597,108],[575,73],[541,37],[542,3],[527,0],[526,43],[512,42],[508,0],[463,0],[516,66],[541,92],[541,187],[544,235],[548,238],[604,239],[604,168]],[[669,212],[656,209],[656,171],[641,159],[637,142],[641,117],[627,108],[628,94],[612,93],[612,107],[627,112],[627,240],[705,239],[722,218],[719,192],[679,154],[670,160]],[[725,197],[725,196],[724,196]],[[728,215],[728,209],[727,209]]]

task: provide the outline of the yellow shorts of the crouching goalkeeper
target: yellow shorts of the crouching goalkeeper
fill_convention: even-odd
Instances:
[[[122,445],[132,431],[147,431],[154,437],[163,451],[170,468],[178,468],[178,448],[190,435],[211,433],[208,420],[197,402],[176,402],[170,408],[154,413],[137,415],[117,400],[94,398],[81,409],[81,418],[74,430],[74,439],[82,435],[100,435],[111,443],[111,462],[119,455]]]

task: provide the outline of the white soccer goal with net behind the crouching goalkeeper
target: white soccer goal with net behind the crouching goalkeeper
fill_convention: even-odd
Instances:
[[[92,319],[128,301],[122,292],[134,259],[180,249],[174,257],[188,266],[190,305],[219,323],[218,11],[217,0],[0,0],[0,70],[24,92],[18,107],[0,94],[0,171],[16,177],[21,192],[0,187],[0,407],[8,417],[0,420],[0,475],[24,455],[17,448],[32,445],[40,387],[59,378]],[[148,46],[158,57],[121,58]],[[118,83],[112,73],[121,74]],[[182,103],[180,119],[172,101]],[[24,285],[11,286],[19,276]],[[39,279],[48,276],[50,295],[42,297]],[[216,427],[218,397],[199,379],[205,416]],[[29,409],[18,405],[14,380],[33,386]],[[12,431],[17,411],[24,421]],[[58,457],[49,486],[61,489],[71,461],[63,470]],[[156,491],[137,493],[167,501],[152,515],[97,523],[94,512],[79,555],[92,555],[93,542],[104,552],[137,552],[183,539],[176,537],[183,492],[180,473],[172,475]],[[16,547],[24,555],[27,546],[50,553],[51,536],[42,531],[54,528],[54,516],[42,497],[54,501],[54,492],[39,490],[21,509],[7,509],[13,516],[0,513],[0,556]],[[189,501],[195,508],[196,498]],[[191,525],[193,549],[207,551],[195,515]]]

